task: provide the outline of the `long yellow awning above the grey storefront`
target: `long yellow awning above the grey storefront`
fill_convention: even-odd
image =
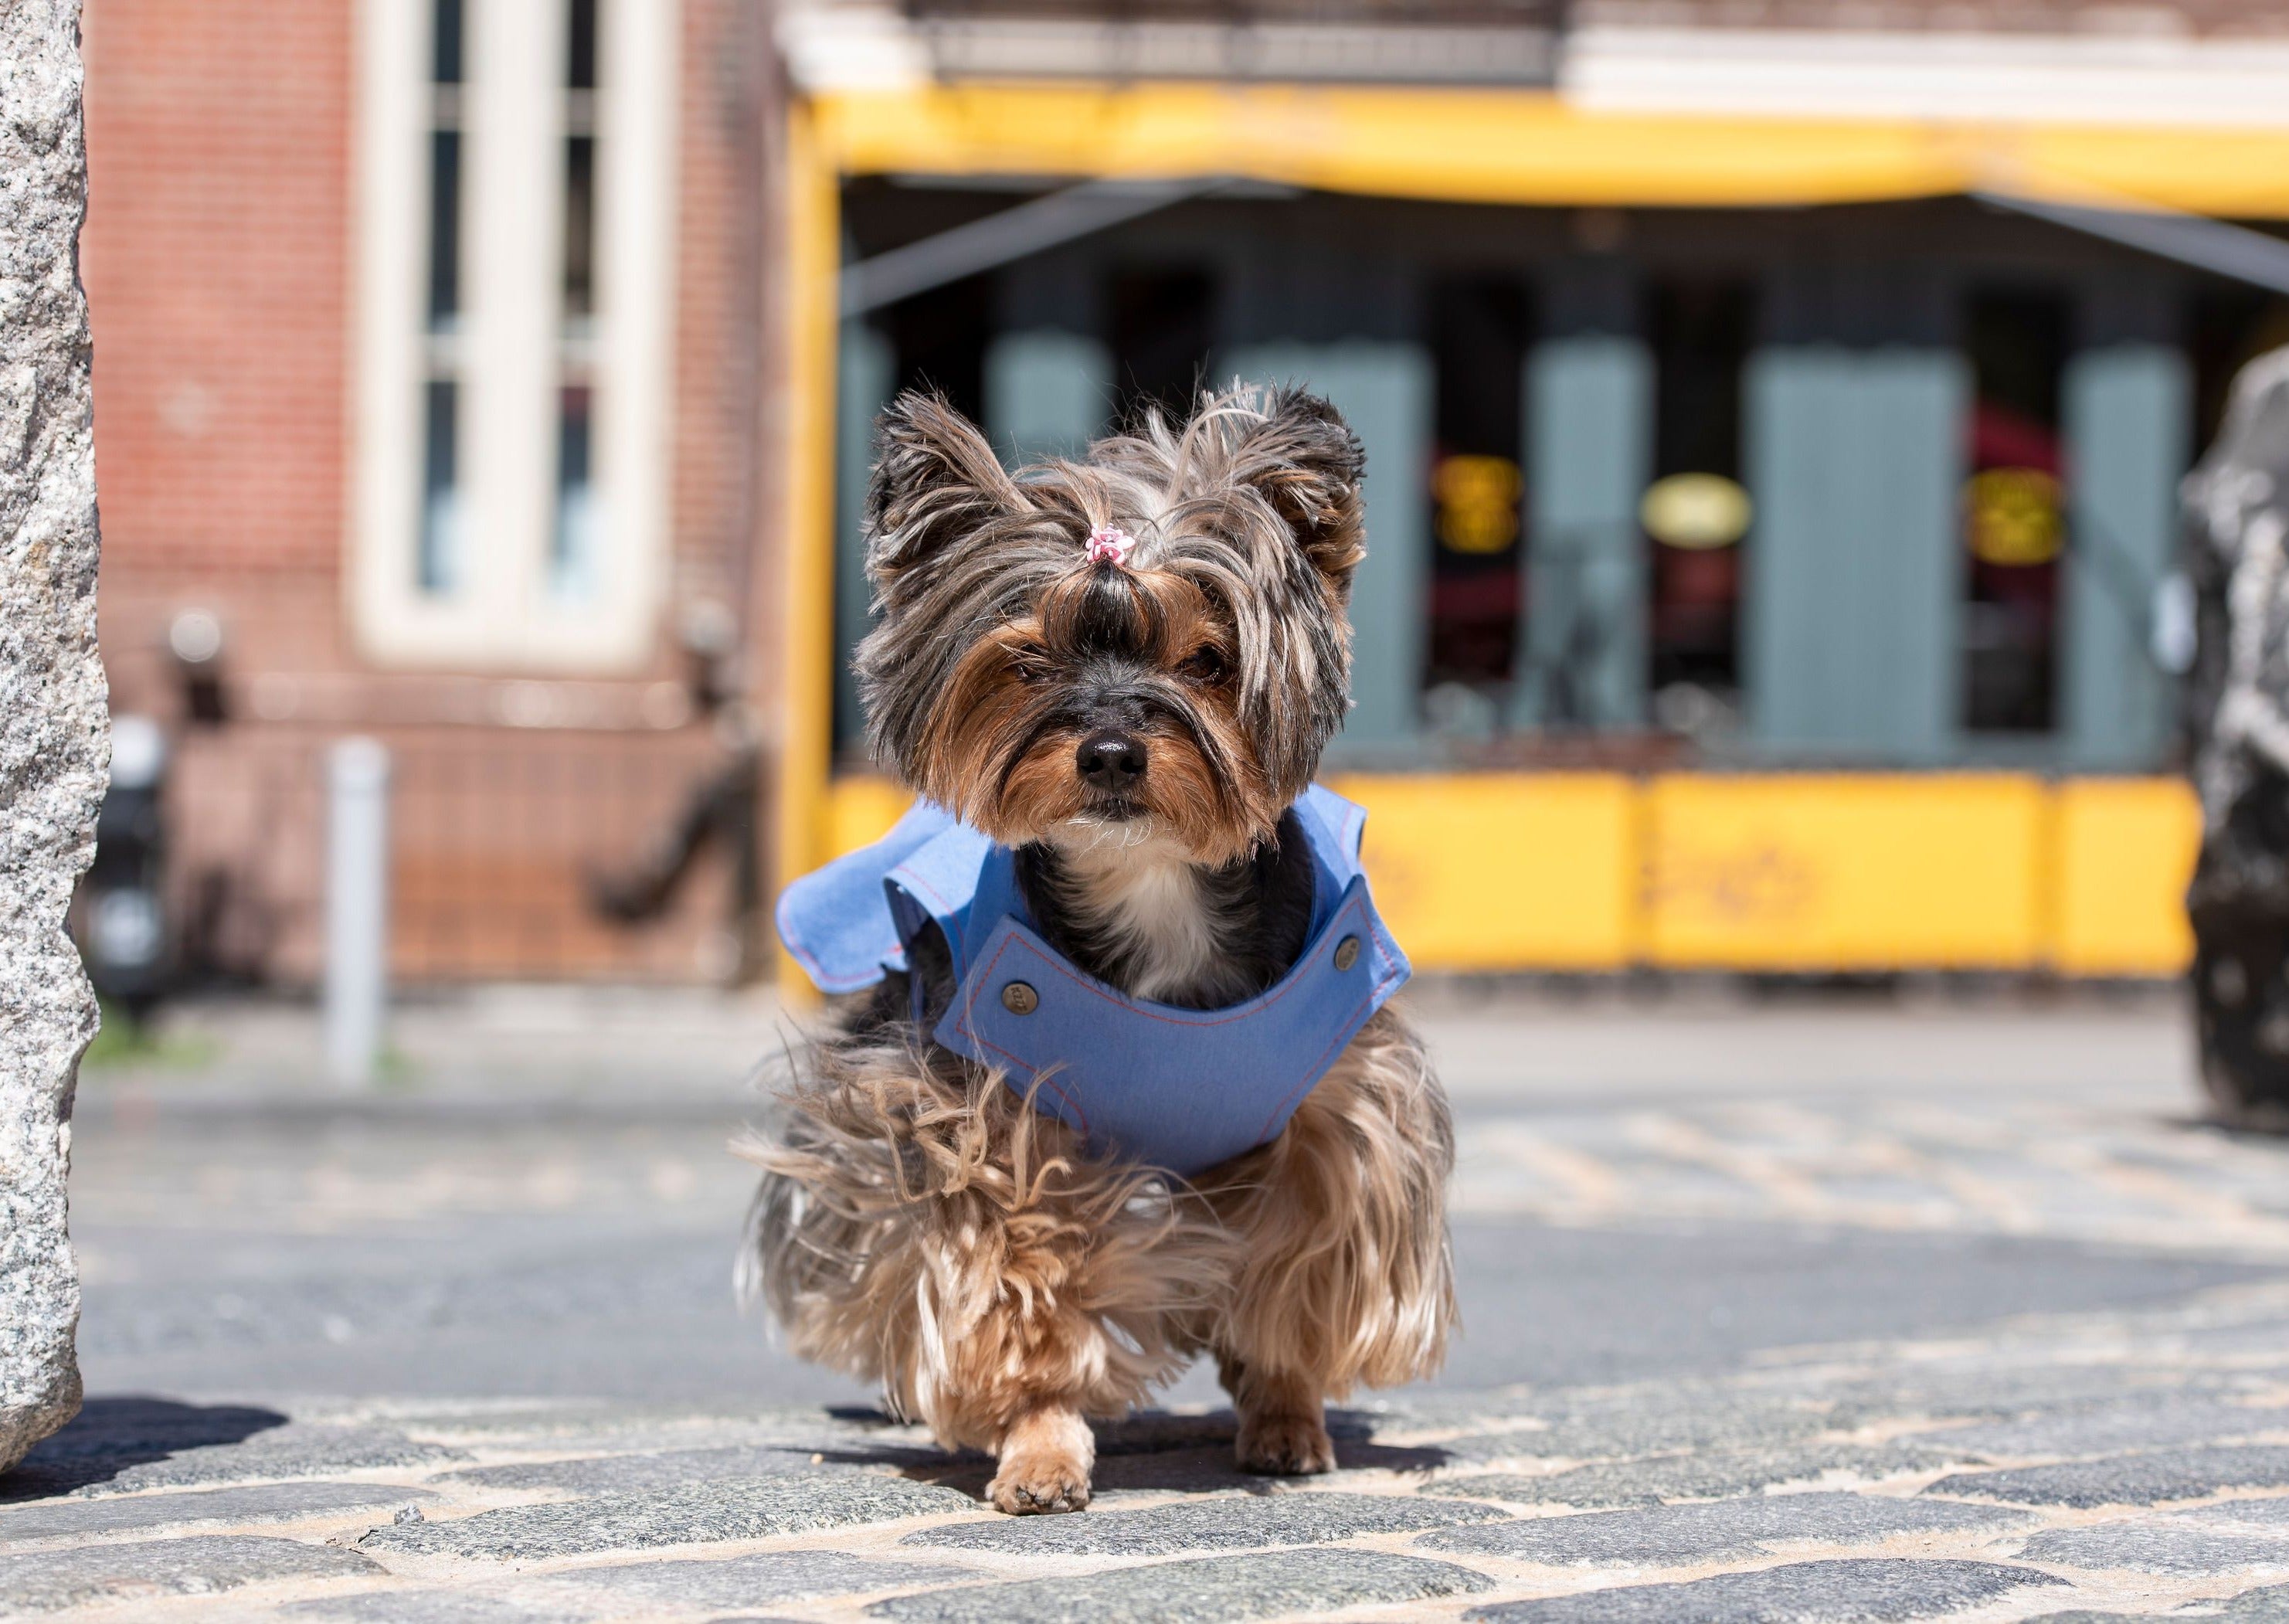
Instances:
[[[2289,128],[1589,112],[1550,92],[925,85],[813,98],[842,174],[1211,176],[1470,204],[1788,206],[1991,188],[2289,218]]]

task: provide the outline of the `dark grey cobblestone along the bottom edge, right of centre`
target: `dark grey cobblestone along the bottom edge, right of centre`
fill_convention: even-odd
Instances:
[[[1843,1558],[1719,1574],[1685,1585],[1623,1585],[1573,1597],[1497,1601],[1465,1619],[1492,1624],[1907,1624],[2065,1580],[2001,1562]]]

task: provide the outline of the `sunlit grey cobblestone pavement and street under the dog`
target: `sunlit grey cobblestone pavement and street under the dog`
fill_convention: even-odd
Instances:
[[[92,1077],[94,1397],[0,1613],[2289,1624],[2289,1148],[2168,1006],[1433,1006],[1444,1383],[1275,1482],[1193,1377],[1023,1521],[732,1315],[703,1042],[552,1088],[481,1026],[371,1099]]]

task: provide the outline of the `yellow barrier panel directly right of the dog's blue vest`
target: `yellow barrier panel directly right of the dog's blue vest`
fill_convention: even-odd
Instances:
[[[1344,776],[1376,907],[1421,969],[1625,969],[1637,783],[1611,772]]]

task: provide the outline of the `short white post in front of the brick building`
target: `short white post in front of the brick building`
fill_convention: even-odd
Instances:
[[[389,999],[389,751],[339,740],[325,790],[325,1070],[366,1083]]]

